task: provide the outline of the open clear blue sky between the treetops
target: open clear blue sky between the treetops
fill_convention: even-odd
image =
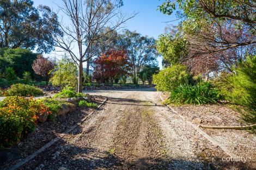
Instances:
[[[123,0],[124,5],[121,10],[126,14],[138,14],[125,23],[125,29],[131,31],[136,30],[137,33],[148,35],[150,37],[157,37],[163,33],[164,28],[167,26],[167,21],[175,20],[175,15],[167,16],[157,10],[158,6],[164,2],[163,0]],[[62,4],[62,0],[34,0],[34,5],[47,5],[53,11],[57,11],[58,5]],[[168,24],[177,25],[179,21],[171,22]],[[157,58],[159,66],[162,68],[162,58]]]

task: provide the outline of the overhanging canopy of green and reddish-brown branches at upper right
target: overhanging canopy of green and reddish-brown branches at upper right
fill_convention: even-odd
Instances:
[[[193,73],[231,72],[246,55],[255,54],[255,1],[167,0],[159,9],[171,15],[177,7],[178,34],[188,42],[183,63]]]

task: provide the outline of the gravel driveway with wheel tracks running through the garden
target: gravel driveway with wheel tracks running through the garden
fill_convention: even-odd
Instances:
[[[253,169],[160,102],[153,88],[89,91],[106,104],[21,169]]]

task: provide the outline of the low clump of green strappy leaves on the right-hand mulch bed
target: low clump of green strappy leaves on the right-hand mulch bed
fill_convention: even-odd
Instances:
[[[221,99],[220,90],[205,82],[198,85],[180,85],[170,92],[169,101],[175,104],[209,104]]]

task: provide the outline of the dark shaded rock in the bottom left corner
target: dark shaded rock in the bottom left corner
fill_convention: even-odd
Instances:
[[[0,149],[0,165],[4,162],[12,161],[21,158],[20,150],[17,148]]]

